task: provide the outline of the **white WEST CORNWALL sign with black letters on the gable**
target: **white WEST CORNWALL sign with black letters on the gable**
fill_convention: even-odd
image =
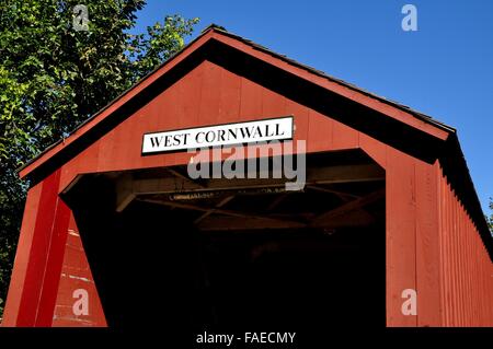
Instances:
[[[293,139],[293,116],[144,135],[142,155]]]

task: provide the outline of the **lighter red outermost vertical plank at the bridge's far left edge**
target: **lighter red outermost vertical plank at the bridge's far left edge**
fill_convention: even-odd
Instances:
[[[43,182],[27,191],[24,214],[22,218],[22,228],[3,312],[2,326],[5,327],[15,326],[18,323],[22,293],[25,287],[24,280],[26,279],[27,267],[30,265],[30,252],[33,244],[42,190]]]

